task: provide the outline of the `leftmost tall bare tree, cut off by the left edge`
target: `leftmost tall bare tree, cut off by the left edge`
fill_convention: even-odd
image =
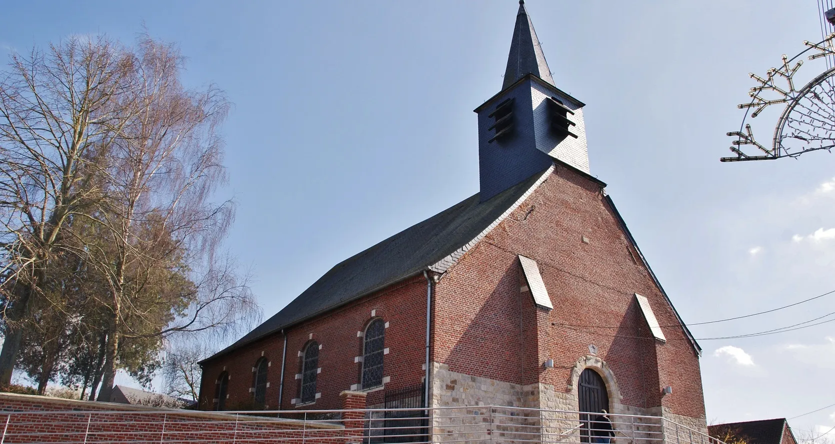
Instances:
[[[23,329],[64,229],[99,194],[89,167],[124,125],[121,86],[134,62],[104,37],[13,54],[0,77],[0,385],[11,382]]]

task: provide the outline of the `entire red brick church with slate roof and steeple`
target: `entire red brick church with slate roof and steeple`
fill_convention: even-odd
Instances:
[[[590,175],[583,107],[520,2],[502,89],[475,109],[478,193],[338,263],[201,362],[200,409],[340,409],[347,393],[706,430],[701,348]]]

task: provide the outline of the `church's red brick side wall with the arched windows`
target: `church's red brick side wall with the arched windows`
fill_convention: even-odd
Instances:
[[[296,373],[301,373],[302,359],[298,352],[304,350],[311,340],[321,344],[319,367],[321,373],[316,377],[316,392],[321,398],[313,404],[299,408],[306,410],[338,409],[342,406],[339,394],[351,390],[353,384],[360,382],[362,363],[355,363],[354,357],[362,356],[362,337],[367,323],[372,320],[371,312],[389,323],[386,329],[385,347],[389,354],[383,360],[383,376],[391,381],[385,384],[386,390],[416,386],[425,375],[426,341],[426,287],[423,276],[412,277],[397,283],[370,297],[327,312],[287,330],[287,359],[284,377],[284,396],[281,405],[278,402],[279,379],[281,377],[281,350],[284,338],[280,333],[266,337],[242,347],[203,367],[203,381],[200,389],[200,409],[211,410],[215,394],[215,381],[223,372],[223,367],[230,374],[229,399],[227,410],[253,408],[252,367],[265,356],[270,362],[267,381],[270,387],[266,392],[266,408],[270,410],[292,410],[293,398],[301,397],[301,380],[296,380]],[[369,406],[382,402],[384,392],[368,394]]]

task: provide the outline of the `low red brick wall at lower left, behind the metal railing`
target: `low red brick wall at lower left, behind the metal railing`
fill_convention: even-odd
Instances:
[[[0,393],[3,444],[34,442],[310,442],[343,444],[337,423]],[[349,438],[350,439],[350,438]],[[356,439],[351,439],[356,441]]]

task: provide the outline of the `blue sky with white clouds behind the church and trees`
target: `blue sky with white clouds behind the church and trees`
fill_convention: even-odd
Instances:
[[[591,172],[609,183],[686,322],[835,289],[835,231],[826,231],[835,227],[835,157],[718,162],[753,86],[746,74],[819,40],[813,0],[527,6],[554,82],[587,103]],[[342,259],[478,191],[472,110],[501,87],[517,7],[4,2],[0,51],[73,33],[130,42],[143,23],[177,42],[189,57],[185,82],[213,82],[235,104],[224,127],[231,178],[219,198],[238,202],[227,244],[256,273],[269,316]],[[693,331],[782,327],[835,312],[833,301]],[[708,420],[793,417],[835,403],[832,325],[702,341]],[[791,423],[826,430],[833,415],[835,407]]]

